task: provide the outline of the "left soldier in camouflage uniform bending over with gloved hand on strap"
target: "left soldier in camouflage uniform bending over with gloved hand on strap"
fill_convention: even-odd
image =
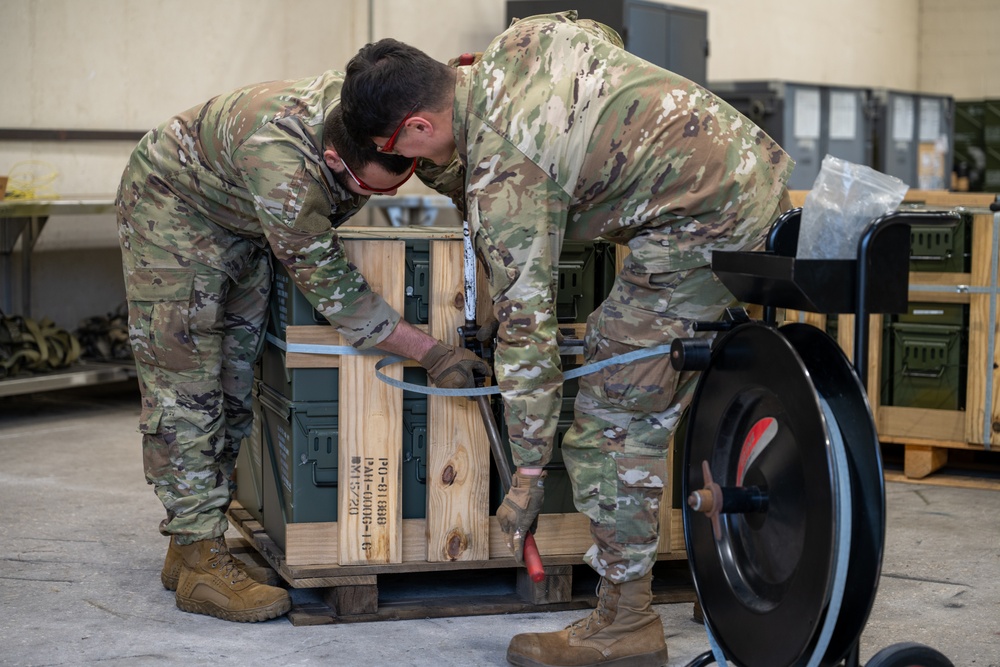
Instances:
[[[356,347],[417,359],[439,386],[488,370],[402,321],[349,263],[336,226],[373,193],[394,193],[416,161],[349,139],[342,81],[331,71],[263,83],[178,114],[139,142],[118,191],[143,461],[171,536],[161,580],[185,611],[259,621],[290,607],[283,589],[246,576],[223,538],[253,419],[271,253]]]

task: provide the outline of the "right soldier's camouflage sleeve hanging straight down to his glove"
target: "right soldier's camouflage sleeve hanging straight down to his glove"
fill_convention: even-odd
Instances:
[[[562,407],[556,341],[558,259],[569,197],[533,162],[486,132],[469,156],[469,224],[500,323],[494,371],[514,462],[552,456]]]

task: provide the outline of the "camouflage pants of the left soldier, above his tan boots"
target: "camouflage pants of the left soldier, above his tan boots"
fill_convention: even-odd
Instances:
[[[173,213],[157,223],[177,223]],[[120,224],[143,466],[167,512],[160,532],[188,544],[228,527],[236,456],[253,423],[253,364],[267,321],[270,261],[247,244],[234,277],[232,267],[193,262],[132,229]]]

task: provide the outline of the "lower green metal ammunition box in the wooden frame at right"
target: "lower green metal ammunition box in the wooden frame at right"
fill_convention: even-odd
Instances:
[[[886,316],[882,349],[882,403],[935,410],[965,409],[968,306],[909,304]]]

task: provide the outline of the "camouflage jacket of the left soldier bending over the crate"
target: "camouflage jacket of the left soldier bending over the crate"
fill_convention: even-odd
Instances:
[[[248,243],[270,245],[309,302],[348,340],[383,340],[399,314],[348,262],[334,227],[368,200],[323,161],[323,120],[343,74],[272,81],[174,116],[132,154],[119,189],[123,236],[234,278]],[[139,210],[141,209],[141,210]]]

